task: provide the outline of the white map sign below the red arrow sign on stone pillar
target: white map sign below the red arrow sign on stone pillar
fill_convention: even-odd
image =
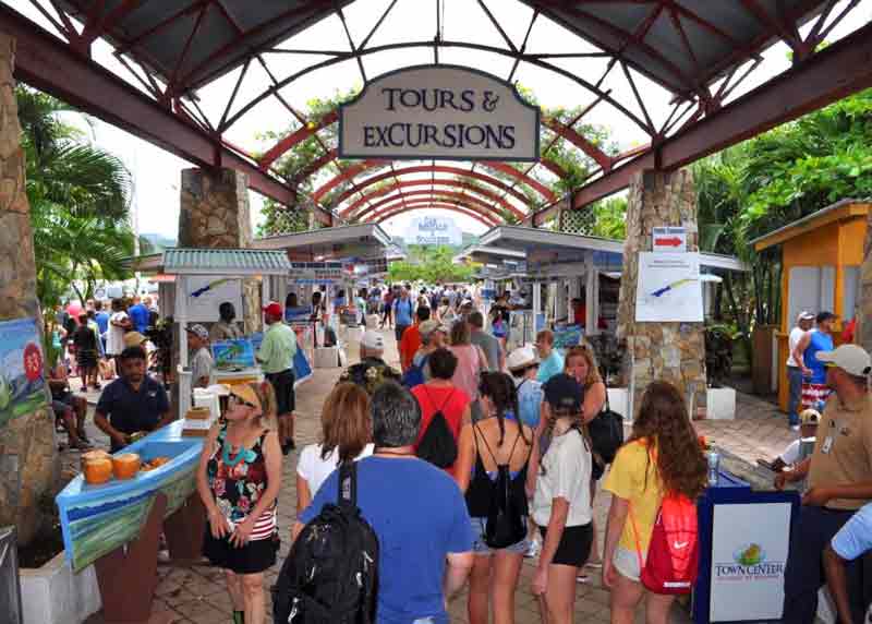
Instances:
[[[639,254],[635,320],[702,323],[699,253]]]

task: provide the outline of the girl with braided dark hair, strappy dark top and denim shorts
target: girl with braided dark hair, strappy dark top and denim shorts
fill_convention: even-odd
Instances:
[[[469,621],[470,624],[487,624],[488,602],[493,602],[494,623],[513,624],[514,590],[528,542],[522,537],[506,548],[492,549],[485,542],[485,527],[494,496],[493,482],[500,466],[508,467],[509,496],[525,525],[528,491],[532,491],[535,483],[535,470],[529,467],[536,463],[537,445],[533,430],[518,420],[518,396],[509,375],[482,373],[479,396],[482,418],[461,430],[455,464],[455,479],[465,493],[476,536],[472,549],[475,563],[470,575]]]

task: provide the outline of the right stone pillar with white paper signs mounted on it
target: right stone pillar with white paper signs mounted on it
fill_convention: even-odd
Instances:
[[[627,344],[622,377],[632,387],[634,410],[649,383],[655,380],[675,384],[691,403],[689,408],[705,406],[704,324],[635,322],[639,253],[651,251],[652,228],[679,225],[687,228],[688,251],[699,251],[697,193],[691,171],[637,175],[630,184],[627,206],[618,304],[618,339]]]

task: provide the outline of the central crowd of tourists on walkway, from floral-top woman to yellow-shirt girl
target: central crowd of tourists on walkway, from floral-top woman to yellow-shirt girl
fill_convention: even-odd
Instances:
[[[400,289],[395,304],[408,297]],[[385,359],[384,334],[365,329],[360,361],[324,401],[320,441],[299,455],[293,545],[272,588],[276,614],[286,609],[279,621],[306,609],[341,621],[337,610],[368,600],[377,622],[436,624],[469,586],[470,622],[511,623],[521,565],[532,556],[532,591],[547,622],[573,621],[576,586],[592,567],[603,567],[619,621],[632,621],[649,596],[650,621],[666,622],[674,596],[642,586],[644,551],[664,493],[692,500],[705,487],[681,393],[653,384],[645,416],[609,458],[603,488],[613,508],[601,552],[593,499],[606,465],[588,425],[605,409],[606,388],[593,351],[579,346],[561,356],[543,331],[535,345],[507,355],[493,331],[499,310],[486,321],[463,300],[443,310],[415,303],[408,319],[396,305],[391,315],[408,323],[398,334],[400,368]],[[276,389],[234,386],[199,466],[206,554],[227,571],[234,621],[250,624],[266,621],[264,573],[287,537],[277,526]],[[360,516],[340,521],[348,503]],[[313,545],[353,532],[361,518],[366,528],[354,539]],[[323,559],[331,549],[341,555],[336,568]],[[361,588],[348,602],[336,593],[343,579]]]

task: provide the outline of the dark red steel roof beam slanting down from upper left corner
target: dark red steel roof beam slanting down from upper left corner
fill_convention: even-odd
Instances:
[[[293,190],[193,123],[174,116],[98,63],[0,2],[0,31],[15,38],[15,77],[157,145],[198,167],[228,167],[249,177],[249,188],[284,205]],[[315,208],[332,224],[330,213]]]

